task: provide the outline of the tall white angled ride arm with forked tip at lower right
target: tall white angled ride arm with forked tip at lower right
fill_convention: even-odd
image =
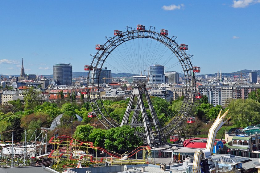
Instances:
[[[221,116],[221,111],[219,112],[216,120],[214,121],[214,123],[212,124],[212,126],[208,131],[208,140],[207,140],[206,148],[204,150],[197,150],[194,153],[194,160],[193,160],[193,167],[192,167],[194,173],[211,172],[208,167],[208,159],[212,157],[211,155],[216,140],[217,132],[231,118],[229,117],[225,120],[225,117],[229,112],[229,110],[227,110],[222,116]]]

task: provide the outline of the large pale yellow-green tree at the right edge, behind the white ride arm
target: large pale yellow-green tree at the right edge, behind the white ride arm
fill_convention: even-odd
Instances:
[[[234,99],[229,103],[229,116],[237,127],[260,124],[260,103],[253,99]]]

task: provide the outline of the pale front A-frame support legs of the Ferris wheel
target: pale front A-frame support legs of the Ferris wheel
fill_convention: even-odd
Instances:
[[[144,125],[144,129],[145,129],[148,145],[151,146],[151,142],[154,143],[154,145],[155,145],[156,142],[155,142],[154,134],[152,132],[151,124],[148,120],[146,109],[145,109],[143,101],[142,101],[142,95],[140,93],[139,87],[137,87],[137,86],[134,87],[133,93],[130,97],[130,101],[128,103],[125,115],[123,117],[123,120],[122,120],[120,126],[128,123],[128,119],[129,119],[129,115],[130,115],[130,111],[131,111],[130,109],[132,107],[135,95],[138,98],[138,104],[139,104],[139,107],[140,107],[140,111],[142,113],[143,125]],[[135,118],[135,117],[132,117],[132,118]]]

